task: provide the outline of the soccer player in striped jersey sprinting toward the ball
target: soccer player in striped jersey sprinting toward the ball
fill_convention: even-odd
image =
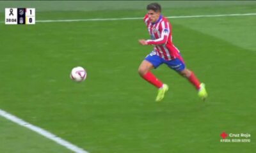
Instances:
[[[158,80],[150,70],[161,64],[177,71],[181,76],[187,78],[198,91],[198,96],[207,98],[205,84],[200,83],[193,71],[186,68],[178,48],[172,43],[172,25],[161,15],[161,6],[151,3],[147,6],[147,14],[143,18],[147,25],[151,40],[139,40],[141,45],[154,45],[154,50],[141,62],[138,72],[140,76],[158,89],[156,101],[161,101],[168,91],[168,85]]]

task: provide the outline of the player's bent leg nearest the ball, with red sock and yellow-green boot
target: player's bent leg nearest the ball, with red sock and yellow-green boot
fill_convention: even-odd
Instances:
[[[151,69],[157,68],[162,64],[160,57],[158,57],[154,52],[147,55],[144,61],[141,62],[140,67],[138,69],[138,73],[140,76],[147,80],[150,84],[157,87],[158,93],[156,101],[161,101],[164,98],[164,94],[168,91],[168,85],[163,84],[160,80],[158,80],[152,73]]]

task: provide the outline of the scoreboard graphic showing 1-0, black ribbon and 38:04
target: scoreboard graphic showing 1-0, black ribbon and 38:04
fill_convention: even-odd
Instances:
[[[35,8],[5,8],[5,24],[35,24]]]

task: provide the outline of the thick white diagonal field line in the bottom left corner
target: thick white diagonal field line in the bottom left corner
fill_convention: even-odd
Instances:
[[[5,112],[4,110],[0,109],[0,116],[11,120],[12,122],[15,122],[16,124],[19,124],[20,126],[24,126],[25,128],[28,128],[36,133],[38,133],[39,135],[44,136],[45,138],[48,138],[60,145],[62,145],[63,147],[66,147],[69,150],[72,150],[73,152],[77,152],[77,153],[88,153],[87,151],[77,147],[76,145],[73,145],[70,142],[67,142],[66,140],[63,140],[62,138],[50,133],[49,131],[46,131],[45,129],[39,128],[37,126],[34,126],[28,122],[25,122],[22,119],[19,119],[18,117],[15,117],[14,115]]]

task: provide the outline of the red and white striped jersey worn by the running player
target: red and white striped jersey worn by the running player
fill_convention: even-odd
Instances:
[[[176,58],[182,59],[179,50],[172,43],[172,25],[168,20],[163,15],[160,15],[154,24],[150,22],[148,15],[145,15],[143,20],[151,36],[151,40],[147,40],[147,43],[154,45],[156,54],[166,61]]]

